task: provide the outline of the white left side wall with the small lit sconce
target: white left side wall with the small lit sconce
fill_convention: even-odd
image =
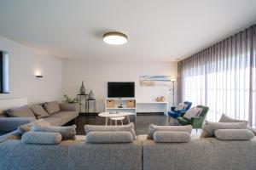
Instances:
[[[0,50],[9,52],[9,94],[0,99],[26,97],[28,104],[61,99],[62,61],[0,37]],[[36,78],[41,71],[43,78]]]

